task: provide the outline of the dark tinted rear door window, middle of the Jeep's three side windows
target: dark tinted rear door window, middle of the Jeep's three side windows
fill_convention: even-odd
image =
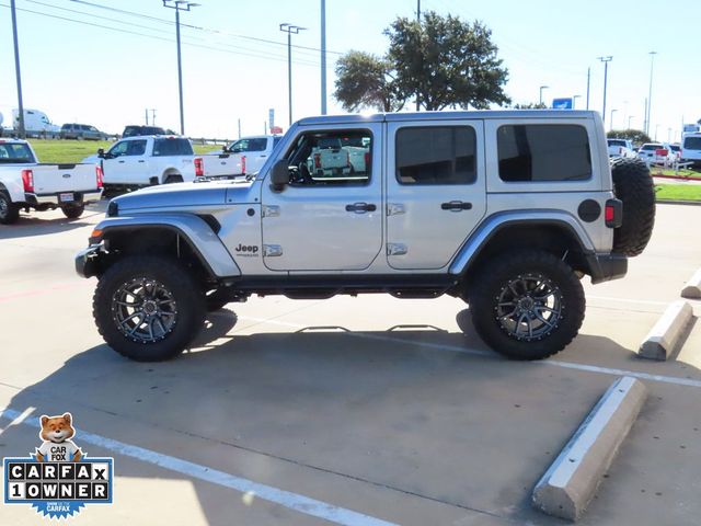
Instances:
[[[401,184],[471,184],[476,179],[476,137],[469,126],[397,132],[397,180]]]

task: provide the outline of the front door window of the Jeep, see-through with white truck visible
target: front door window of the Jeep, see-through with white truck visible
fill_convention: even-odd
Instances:
[[[345,148],[342,137],[357,138],[367,146]],[[365,129],[303,134],[286,159],[292,185],[364,185],[372,175],[372,135]]]

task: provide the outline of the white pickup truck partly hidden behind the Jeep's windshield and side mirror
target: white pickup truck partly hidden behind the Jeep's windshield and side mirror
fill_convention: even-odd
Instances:
[[[226,146],[221,152],[202,156],[206,178],[235,178],[255,173],[271,157],[281,136],[258,135],[243,137]]]

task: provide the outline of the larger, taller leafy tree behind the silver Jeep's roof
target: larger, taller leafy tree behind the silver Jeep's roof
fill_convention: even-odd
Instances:
[[[406,99],[417,94],[426,110],[510,102],[503,91],[508,71],[481,22],[429,11],[421,22],[397,19],[384,34],[399,89]]]

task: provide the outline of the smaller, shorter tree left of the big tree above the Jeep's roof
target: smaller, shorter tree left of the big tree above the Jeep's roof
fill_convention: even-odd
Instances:
[[[348,112],[363,107],[397,112],[406,100],[398,90],[390,62],[369,53],[349,52],[341,57],[335,87],[334,96]]]

